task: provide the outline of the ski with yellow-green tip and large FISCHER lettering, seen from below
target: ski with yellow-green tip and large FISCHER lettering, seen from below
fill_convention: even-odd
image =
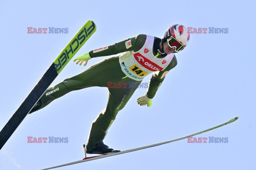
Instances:
[[[28,97],[23,101],[18,110],[13,114],[0,132],[0,150],[11,137],[13,132],[18,128],[27,114],[31,111],[36,102],[41,98],[46,89],[51,85],[53,80],[60,74],[63,68],[68,64],[72,57],[84,45],[84,43],[96,31],[96,25],[93,21],[87,21],[83,27],[76,33],[75,37],[62,50],[60,55],[52,63],[43,77],[38,81]]]

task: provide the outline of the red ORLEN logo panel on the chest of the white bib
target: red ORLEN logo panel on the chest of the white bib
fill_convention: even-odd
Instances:
[[[151,62],[150,60],[148,60],[148,58],[144,57],[140,53],[133,53],[133,56],[134,56],[135,60],[137,60],[137,62],[139,62],[143,67],[145,67],[146,69],[148,69],[150,71],[163,70],[163,68],[161,66]]]

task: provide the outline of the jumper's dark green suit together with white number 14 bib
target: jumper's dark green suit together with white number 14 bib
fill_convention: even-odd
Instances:
[[[92,58],[123,54],[107,58],[84,72],[48,88],[40,99],[42,105],[39,109],[70,91],[94,86],[107,87],[109,91],[107,106],[92,122],[86,145],[87,150],[92,150],[98,142],[105,138],[117,113],[124,108],[142,79],[154,72],[146,93],[149,98],[153,98],[166,73],[177,65],[174,54],[159,53],[160,43],[160,38],[138,35],[114,45],[91,50]],[[118,86],[109,86],[110,83],[118,84]],[[133,87],[119,86],[127,83],[132,83]]]

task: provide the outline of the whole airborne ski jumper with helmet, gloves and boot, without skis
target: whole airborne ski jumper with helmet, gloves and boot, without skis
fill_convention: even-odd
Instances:
[[[138,35],[114,45],[91,50],[77,57],[74,62],[76,61],[79,65],[85,62],[84,65],[86,65],[94,57],[118,55],[94,64],[84,72],[48,88],[30,113],[38,111],[70,91],[94,86],[108,87],[107,106],[92,122],[86,152],[102,155],[118,152],[119,150],[111,149],[103,143],[107,130],[115,120],[117,113],[124,108],[143,78],[154,72],[146,94],[137,99],[140,106],[151,106],[152,99],[166,73],[177,65],[174,53],[184,49],[189,38],[188,29],[183,25],[175,24],[167,29],[162,39]],[[111,88],[108,86],[109,82],[116,84],[129,82],[134,86],[133,88]]]

